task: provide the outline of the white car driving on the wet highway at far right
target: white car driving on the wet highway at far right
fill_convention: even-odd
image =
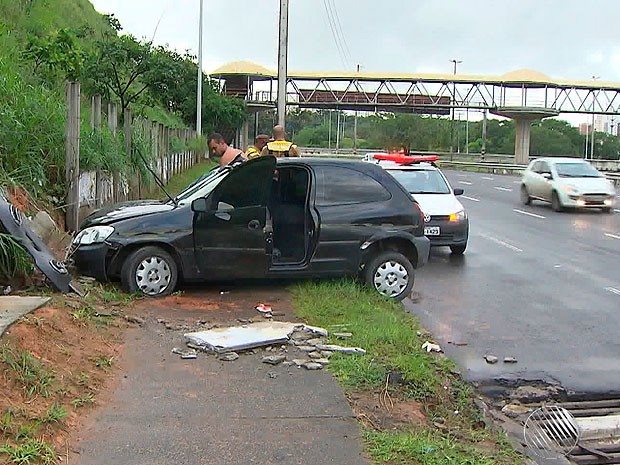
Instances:
[[[521,201],[550,202],[555,211],[566,208],[600,208],[613,212],[613,183],[590,163],[579,158],[547,157],[532,161],[521,179]]]

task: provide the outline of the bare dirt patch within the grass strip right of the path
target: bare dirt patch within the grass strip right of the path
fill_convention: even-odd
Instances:
[[[347,398],[359,420],[374,429],[401,431],[428,423],[424,405],[413,399],[367,391],[350,393]]]

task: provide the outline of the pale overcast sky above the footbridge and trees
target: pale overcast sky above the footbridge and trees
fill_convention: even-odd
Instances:
[[[199,0],[91,1],[124,32],[197,54]],[[275,69],[279,3],[204,0],[205,71],[236,60]],[[619,18],[618,0],[290,0],[289,69],[449,73],[455,58],[463,74],[620,82]]]

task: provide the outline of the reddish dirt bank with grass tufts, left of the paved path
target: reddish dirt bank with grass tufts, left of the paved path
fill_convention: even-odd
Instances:
[[[64,455],[78,415],[105,397],[123,326],[62,306],[41,308],[12,326],[0,341],[2,443],[36,439]]]

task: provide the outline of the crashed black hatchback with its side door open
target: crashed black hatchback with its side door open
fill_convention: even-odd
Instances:
[[[127,202],[87,217],[78,270],[130,292],[179,281],[361,275],[402,299],[426,263],[424,219],[378,166],[259,157],[216,169],[168,202]]]

